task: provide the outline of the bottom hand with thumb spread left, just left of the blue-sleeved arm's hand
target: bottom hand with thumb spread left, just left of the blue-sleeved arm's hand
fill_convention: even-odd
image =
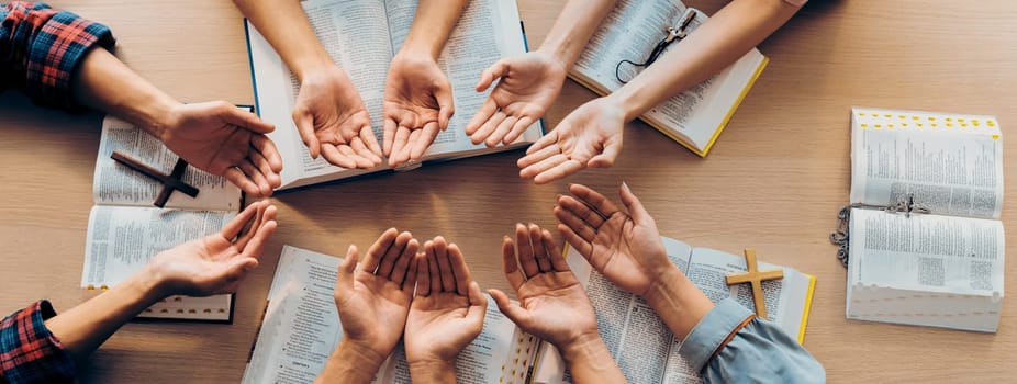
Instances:
[[[559,350],[590,338],[600,339],[596,315],[582,285],[547,230],[535,224],[515,226],[518,257],[512,239],[502,240],[502,261],[518,304],[489,290],[498,308],[523,330],[550,341]],[[517,261],[518,260],[518,261]],[[522,266],[522,270],[519,269]]]

